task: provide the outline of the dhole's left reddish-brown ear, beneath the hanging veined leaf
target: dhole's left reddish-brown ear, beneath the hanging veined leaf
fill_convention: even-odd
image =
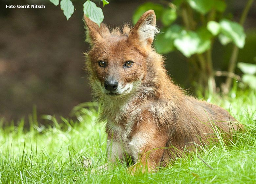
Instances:
[[[98,26],[95,22],[84,15],[84,23],[86,30],[86,41],[94,45],[96,41],[100,41],[108,36],[110,32],[105,24]]]

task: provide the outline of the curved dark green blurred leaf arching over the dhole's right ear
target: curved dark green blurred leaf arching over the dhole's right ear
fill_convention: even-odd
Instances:
[[[133,18],[132,18],[133,24],[135,25],[139,20],[139,17],[149,9],[153,9],[155,11],[155,14],[158,19],[162,16],[162,12],[164,8],[162,5],[156,4],[156,3],[149,2],[149,3],[142,4],[141,6],[139,6],[139,8],[136,9],[135,13],[133,14]]]

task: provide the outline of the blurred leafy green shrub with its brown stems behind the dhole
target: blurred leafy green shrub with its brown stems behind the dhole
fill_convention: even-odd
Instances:
[[[214,93],[216,72],[212,61],[213,43],[219,40],[222,45],[233,42],[240,49],[244,47],[246,36],[242,25],[252,2],[249,0],[245,5],[240,23],[225,17],[227,5],[224,0],[147,2],[137,8],[133,23],[148,9],[155,10],[157,20],[162,25],[161,33],[154,41],[157,52],[168,54],[179,50],[190,63],[190,71],[193,72],[191,82],[196,81],[197,89],[208,89]],[[233,50],[232,54],[237,57],[238,49]],[[235,63],[236,57],[230,59],[230,63]],[[234,72],[234,66],[229,66],[229,69],[229,73]],[[230,87],[226,85],[225,88]]]

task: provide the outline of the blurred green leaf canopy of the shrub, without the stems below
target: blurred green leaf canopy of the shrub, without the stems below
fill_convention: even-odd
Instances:
[[[243,48],[245,33],[241,25],[227,19],[222,19],[218,23],[213,21],[212,17],[206,17],[213,16],[210,11],[220,14],[225,8],[226,4],[222,0],[176,0],[168,3],[167,6],[145,3],[136,10],[133,23],[135,24],[146,10],[155,10],[157,18],[163,25],[162,33],[156,37],[155,41],[156,49],[161,54],[175,49],[181,51],[187,58],[193,54],[202,54],[210,49],[215,36],[219,36],[223,45],[234,42],[239,48]],[[200,14],[200,16],[196,17],[194,14]],[[179,16],[184,20],[184,25],[173,24]]]

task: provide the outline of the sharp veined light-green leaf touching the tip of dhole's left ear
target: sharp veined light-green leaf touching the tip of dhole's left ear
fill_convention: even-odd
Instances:
[[[100,26],[104,19],[102,9],[97,7],[96,4],[92,1],[87,0],[84,3],[84,14],[90,18],[93,22]]]

